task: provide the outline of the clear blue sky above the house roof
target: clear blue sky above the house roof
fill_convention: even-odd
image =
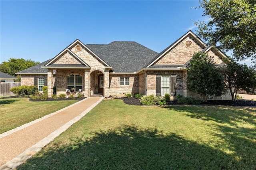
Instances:
[[[198,0],[1,0],[0,62],[10,57],[46,61],[76,39],[135,41],[159,53],[188,30],[196,33],[192,20],[207,19],[195,6]]]

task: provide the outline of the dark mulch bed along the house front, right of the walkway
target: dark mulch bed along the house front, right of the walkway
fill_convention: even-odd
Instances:
[[[134,97],[121,97],[124,103],[128,105],[140,105],[140,100]],[[181,105],[176,100],[170,101],[167,105]],[[220,100],[220,101],[207,101],[203,102],[201,105],[226,105],[226,106],[256,106],[256,101],[251,100],[237,100],[232,102],[231,100]]]

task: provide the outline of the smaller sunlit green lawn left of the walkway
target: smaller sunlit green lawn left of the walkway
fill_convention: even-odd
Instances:
[[[29,101],[29,98],[0,98],[0,134],[67,107],[76,100]]]

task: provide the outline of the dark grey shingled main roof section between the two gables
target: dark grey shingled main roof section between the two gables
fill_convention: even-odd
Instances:
[[[109,44],[86,44],[118,73],[134,73],[158,53],[137,43],[114,41]]]

